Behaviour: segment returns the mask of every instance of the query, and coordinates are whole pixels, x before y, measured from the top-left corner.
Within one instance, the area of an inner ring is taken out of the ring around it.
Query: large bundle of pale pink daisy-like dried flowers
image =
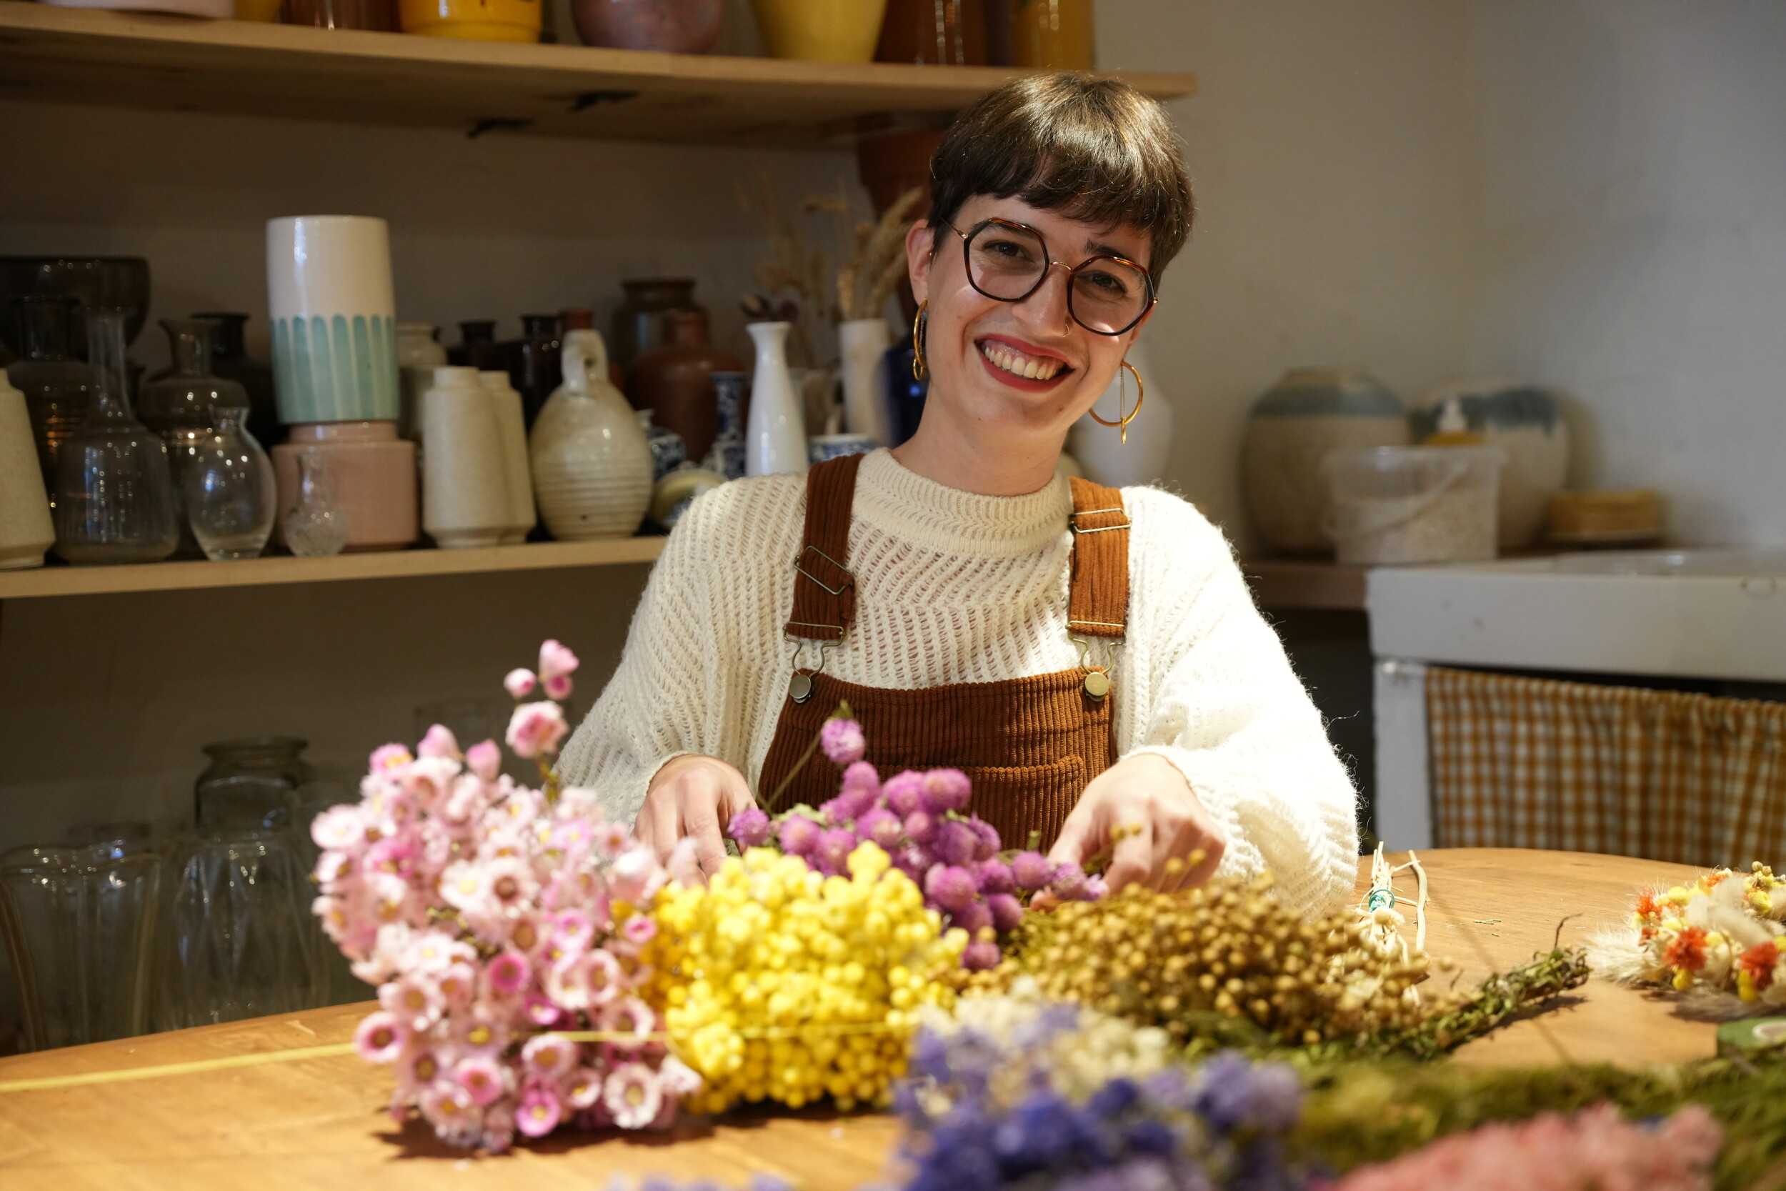
[[[668,880],[655,854],[602,814],[591,791],[559,791],[552,759],[570,730],[577,655],[557,641],[539,673],[513,671],[509,748],[539,761],[543,789],[500,773],[482,741],[461,754],[436,725],[411,754],[371,755],[357,805],[311,825],[316,914],[379,986],[355,1043],[396,1071],[391,1112],[420,1112],[448,1143],[507,1150],[514,1134],[664,1127],[700,1079],[661,1045],[641,1000],[639,952]],[[595,1030],[602,1041],[566,1032]]]

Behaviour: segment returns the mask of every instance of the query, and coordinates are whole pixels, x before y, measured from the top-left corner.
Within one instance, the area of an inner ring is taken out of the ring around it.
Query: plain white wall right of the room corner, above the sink
[[[1786,5],[1472,0],[1468,362],[1561,384],[1579,480],[1786,545]]]

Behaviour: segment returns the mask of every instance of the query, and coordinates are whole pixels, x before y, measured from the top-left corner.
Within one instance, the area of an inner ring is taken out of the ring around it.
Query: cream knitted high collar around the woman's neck
[[[982,496],[927,480],[893,452],[863,459],[855,479],[857,520],[938,554],[1014,559],[1047,550],[1066,532],[1072,487],[1056,473],[1025,496]]]

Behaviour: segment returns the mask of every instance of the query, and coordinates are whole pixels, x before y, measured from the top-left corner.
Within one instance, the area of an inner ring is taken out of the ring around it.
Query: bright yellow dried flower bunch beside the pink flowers
[[[707,886],[657,895],[645,952],[679,1057],[705,1080],[688,1100],[884,1105],[906,1071],[920,1005],[950,1007],[964,930],[943,932],[923,893],[873,843],[850,877],[752,848]]]

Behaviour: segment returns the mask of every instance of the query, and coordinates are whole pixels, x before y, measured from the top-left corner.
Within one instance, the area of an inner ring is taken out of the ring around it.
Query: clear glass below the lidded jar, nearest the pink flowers
[[[313,896],[289,830],[232,829],[175,843],[163,891],[157,1027],[321,1005]]]

